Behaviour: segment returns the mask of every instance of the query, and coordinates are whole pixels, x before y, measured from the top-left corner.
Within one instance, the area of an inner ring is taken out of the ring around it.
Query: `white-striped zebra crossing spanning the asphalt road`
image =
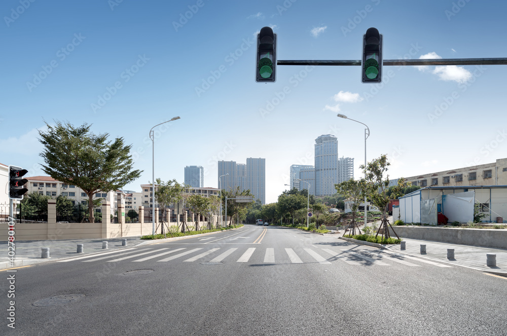
[[[75,258],[58,260],[58,263],[66,263],[74,260],[80,260],[84,263],[93,263],[104,261],[106,263],[117,263],[128,260],[129,262],[139,263],[147,260],[164,263],[176,260],[176,262],[210,262],[222,263],[236,262],[248,263],[262,260],[265,264],[308,264],[318,263],[321,265],[331,265],[333,262],[345,263],[352,266],[374,265],[388,267],[393,265],[404,265],[407,267],[422,267],[431,265],[435,267],[452,267],[445,264],[432,262],[427,259],[416,258],[409,255],[399,254],[392,251],[375,250],[350,250],[330,248],[318,248],[315,245],[312,248],[302,248],[295,251],[293,248],[273,247],[248,247],[241,250],[238,247],[233,248],[127,248],[117,251],[107,251],[84,255]],[[192,255],[194,254],[194,255]]]

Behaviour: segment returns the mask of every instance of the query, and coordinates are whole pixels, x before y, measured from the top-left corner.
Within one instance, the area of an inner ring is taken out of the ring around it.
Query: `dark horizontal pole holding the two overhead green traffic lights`
[[[355,60],[277,60],[277,65],[361,65]],[[507,65],[507,58],[384,59],[382,65]]]

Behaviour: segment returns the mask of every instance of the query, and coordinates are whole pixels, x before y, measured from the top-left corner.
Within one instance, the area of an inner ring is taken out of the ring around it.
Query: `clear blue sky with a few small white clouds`
[[[500,1],[4,0],[0,162],[44,175],[39,130],[92,124],[132,144],[140,179],[184,181],[218,161],[266,159],[266,202],[289,167],[313,165],[315,138],[338,138],[339,157],[388,156],[390,178],[507,157],[506,65],[384,66],[381,84],[359,66],[276,67],[255,82],[256,36],[277,34],[278,60],[358,60],[363,34],[383,35],[384,59],[507,57]]]

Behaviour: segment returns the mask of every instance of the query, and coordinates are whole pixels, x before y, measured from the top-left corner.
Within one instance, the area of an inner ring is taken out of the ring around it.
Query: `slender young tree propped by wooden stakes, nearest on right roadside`
[[[403,195],[403,189],[407,187],[405,178],[402,177],[398,179],[398,184],[391,188],[390,193],[387,193],[389,189],[387,167],[390,165],[391,164],[387,161],[387,156],[383,154],[379,158],[368,162],[366,167],[365,165],[359,166],[366,174],[366,192],[368,199],[382,211],[382,221],[376,236],[381,233],[387,238],[390,236],[387,226],[391,227],[387,220],[387,205],[391,199]],[[400,238],[392,227],[391,230],[397,238]]]

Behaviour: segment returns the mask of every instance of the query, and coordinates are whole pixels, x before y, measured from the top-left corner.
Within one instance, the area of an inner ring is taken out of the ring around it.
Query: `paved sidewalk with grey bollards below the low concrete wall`
[[[390,245],[387,249],[450,265],[507,276],[507,250],[409,238],[403,238],[403,240],[406,242],[405,250],[401,250],[400,245]],[[421,253],[421,244],[426,245],[426,253]],[[454,259],[447,258],[448,248],[454,249]],[[486,266],[486,253],[496,254],[496,267]]]

